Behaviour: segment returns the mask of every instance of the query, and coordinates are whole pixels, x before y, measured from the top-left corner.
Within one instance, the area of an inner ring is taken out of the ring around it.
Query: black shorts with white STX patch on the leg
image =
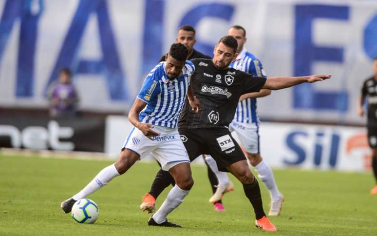
[[[193,161],[202,154],[211,155],[220,171],[240,160],[246,160],[242,149],[227,128],[178,129],[188,157]]]

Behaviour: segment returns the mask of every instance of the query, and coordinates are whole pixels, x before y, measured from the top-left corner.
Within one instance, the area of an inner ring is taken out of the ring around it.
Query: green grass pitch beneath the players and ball
[[[156,163],[137,163],[129,172],[89,196],[99,206],[93,225],[75,223],[60,202],[84,187],[109,161],[46,159],[0,154],[0,235],[376,235],[377,196],[371,174],[275,170],[285,196],[282,215],[270,217],[278,232],[254,226],[254,212],[242,185],[226,194],[226,212],[215,212],[207,168],[192,166],[188,197],[168,219],[183,229],[147,225],[139,208]],[[268,212],[269,194],[259,181]],[[169,188],[170,189],[170,188]],[[157,199],[160,206],[168,190]]]

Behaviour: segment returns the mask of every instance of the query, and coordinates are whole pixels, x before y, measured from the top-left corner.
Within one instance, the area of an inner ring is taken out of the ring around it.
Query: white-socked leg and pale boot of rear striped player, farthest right
[[[270,210],[268,216],[279,216],[282,210],[284,196],[279,192],[278,186],[275,182],[274,174],[270,166],[263,160],[261,154],[247,153],[243,150],[250,164],[258,173],[259,179],[262,180],[264,186],[268,189],[271,197]]]

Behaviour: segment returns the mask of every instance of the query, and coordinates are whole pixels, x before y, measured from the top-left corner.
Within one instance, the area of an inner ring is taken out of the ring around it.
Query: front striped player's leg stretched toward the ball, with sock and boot
[[[78,192],[76,195],[74,195],[71,198],[68,198],[67,200],[63,201],[60,204],[61,209],[65,213],[70,213],[72,210],[72,206],[75,204],[75,202],[78,199],[85,198],[94,192],[96,192],[101,187],[108,184],[114,177],[120,176],[140,158],[139,154],[129,150],[129,149],[123,149],[120,153],[118,159],[116,159],[115,163],[112,165],[109,165],[108,167],[105,167],[102,169],[95,177],[94,179],[85,186],[80,192]]]

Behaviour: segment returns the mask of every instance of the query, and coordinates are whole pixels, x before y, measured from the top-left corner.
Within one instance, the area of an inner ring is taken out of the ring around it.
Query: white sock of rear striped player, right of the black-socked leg
[[[281,194],[278,190],[278,186],[276,186],[274,174],[272,174],[272,170],[267,162],[262,159],[262,161],[254,168],[258,173],[258,177],[263,181],[264,186],[266,186],[270,192],[271,199],[279,199]]]

